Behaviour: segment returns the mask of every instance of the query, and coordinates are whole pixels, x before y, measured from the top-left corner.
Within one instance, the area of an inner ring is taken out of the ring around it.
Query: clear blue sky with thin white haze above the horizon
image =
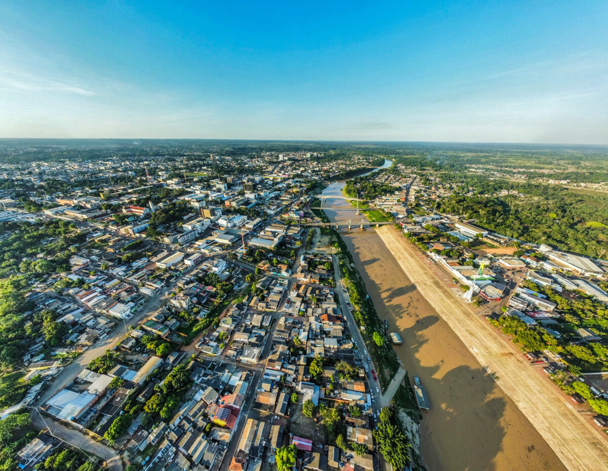
[[[0,137],[608,143],[608,4],[0,2]]]

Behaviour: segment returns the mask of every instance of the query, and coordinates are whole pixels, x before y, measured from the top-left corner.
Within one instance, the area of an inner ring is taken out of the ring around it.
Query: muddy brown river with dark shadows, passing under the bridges
[[[389,163],[390,164],[390,163]],[[344,182],[324,195],[340,195]],[[333,205],[344,203],[331,200]],[[354,211],[327,211],[333,221],[361,220]],[[554,470],[561,461],[496,386],[456,334],[412,285],[373,229],[342,237],[378,314],[401,334],[395,348],[429,393],[421,452],[429,470]]]

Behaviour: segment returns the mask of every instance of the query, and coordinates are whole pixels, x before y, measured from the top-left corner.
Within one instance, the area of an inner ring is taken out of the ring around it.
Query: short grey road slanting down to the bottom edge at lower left
[[[80,449],[89,455],[99,456],[105,460],[109,471],[123,471],[120,456],[102,442],[95,441],[79,430],[69,429],[65,425],[61,425],[47,417],[43,418],[36,408],[30,410],[30,418],[32,419],[32,425],[37,429],[48,430],[50,435],[60,439],[69,446]]]

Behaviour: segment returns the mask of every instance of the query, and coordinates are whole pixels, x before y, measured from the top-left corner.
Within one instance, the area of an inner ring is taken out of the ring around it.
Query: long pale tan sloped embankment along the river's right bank
[[[537,371],[472,313],[417,256],[393,226],[378,234],[409,279],[517,405],[570,470],[608,470],[608,443]]]

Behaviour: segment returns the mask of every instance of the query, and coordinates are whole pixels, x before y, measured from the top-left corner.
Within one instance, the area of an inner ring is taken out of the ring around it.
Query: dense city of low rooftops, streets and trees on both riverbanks
[[[605,206],[578,253],[416,156],[3,145],[0,469],[424,469],[440,405],[340,235],[384,226],[606,440]]]

